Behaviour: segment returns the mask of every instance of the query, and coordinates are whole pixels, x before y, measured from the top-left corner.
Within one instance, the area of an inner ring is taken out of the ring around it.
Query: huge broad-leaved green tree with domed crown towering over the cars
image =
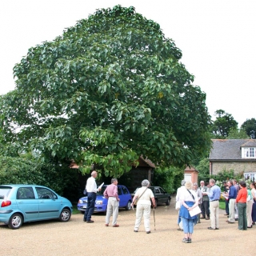
[[[14,66],[5,142],[120,176],[140,155],[182,166],[209,147],[206,95],[182,52],[134,7],[97,10]]]

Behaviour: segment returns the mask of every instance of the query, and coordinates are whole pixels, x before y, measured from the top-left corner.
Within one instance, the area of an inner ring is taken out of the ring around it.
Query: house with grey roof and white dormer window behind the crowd
[[[256,180],[256,139],[212,139],[210,174],[222,170],[243,173],[246,179]]]

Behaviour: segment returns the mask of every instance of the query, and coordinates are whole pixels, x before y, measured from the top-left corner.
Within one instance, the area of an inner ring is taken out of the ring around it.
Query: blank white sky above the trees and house
[[[28,49],[53,41],[96,9],[120,4],[157,22],[206,93],[208,112],[256,118],[255,0],[8,0],[0,3],[0,94],[15,89],[13,67]]]

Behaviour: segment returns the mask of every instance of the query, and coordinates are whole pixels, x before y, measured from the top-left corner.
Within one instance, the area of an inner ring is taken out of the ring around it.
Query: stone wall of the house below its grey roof
[[[256,162],[211,162],[212,174],[222,170],[234,170],[234,174],[256,172]],[[210,171],[211,174],[211,171]]]

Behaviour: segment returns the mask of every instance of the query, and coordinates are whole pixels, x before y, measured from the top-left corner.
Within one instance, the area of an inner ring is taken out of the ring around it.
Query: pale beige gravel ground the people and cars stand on
[[[70,222],[31,222],[18,230],[0,224],[1,256],[10,255],[252,255],[256,249],[256,226],[238,230],[238,222],[227,224],[220,210],[220,230],[207,230],[210,221],[202,219],[194,227],[192,243],[182,242],[178,231],[178,211],[170,206],[151,210],[151,234],[143,226],[134,233],[135,211],[119,210],[119,227],[105,226],[105,216],[94,214],[94,223],[74,214]],[[110,219],[111,221],[111,219]]]

